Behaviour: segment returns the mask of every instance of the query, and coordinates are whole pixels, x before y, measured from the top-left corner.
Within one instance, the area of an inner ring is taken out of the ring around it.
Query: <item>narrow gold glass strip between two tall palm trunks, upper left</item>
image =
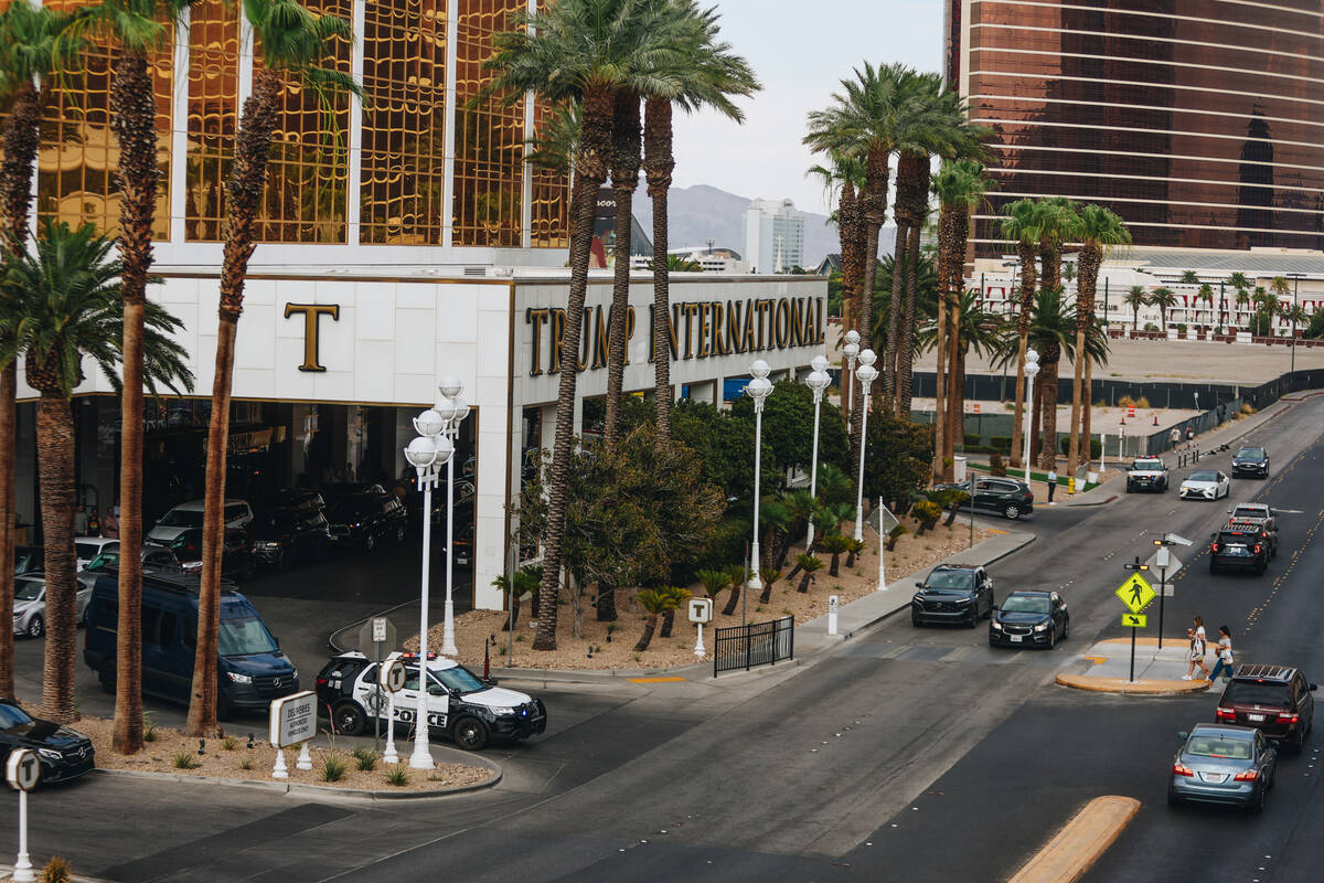
[[[193,5],[188,45],[188,159],[184,236],[221,238],[225,180],[234,155],[240,97],[240,11],[225,0]]]

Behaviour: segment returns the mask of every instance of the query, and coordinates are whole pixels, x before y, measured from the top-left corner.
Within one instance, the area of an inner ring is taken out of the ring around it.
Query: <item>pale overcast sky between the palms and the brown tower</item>
[[[741,102],[744,124],[704,111],[675,115],[675,183],[751,199],[789,196],[826,214],[817,159],[801,146],[805,114],[824,107],[862,61],[939,70],[940,0],[710,0],[722,37],[749,60],[763,91]],[[704,4],[707,5],[707,4]]]

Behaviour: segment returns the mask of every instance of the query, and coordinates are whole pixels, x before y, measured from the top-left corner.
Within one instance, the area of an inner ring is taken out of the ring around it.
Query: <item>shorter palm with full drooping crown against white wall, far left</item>
[[[122,265],[110,258],[114,242],[91,225],[70,230],[48,221],[30,249],[7,256],[0,275],[0,364],[24,356],[28,385],[37,391],[37,469],[45,534],[46,653],[42,716],[69,723],[74,704],[77,588],[74,580],[74,420],[73,389],[90,357],[119,388],[115,368],[123,346]],[[147,304],[143,334],[144,383],[183,395],[193,376],[187,353],[169,335],[183,324]]]

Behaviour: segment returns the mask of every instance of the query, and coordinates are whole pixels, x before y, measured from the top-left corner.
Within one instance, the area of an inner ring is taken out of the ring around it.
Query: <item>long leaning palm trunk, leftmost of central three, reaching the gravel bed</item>
[[[561,552],[565,540],[565,503],[569,490],[571,443],[575,432],[575,391],[579,380],[577,353],[584,330],[584,294],[588,290],[589,244],[593,236],[593,205],[597,189],[606,180],[612,150],[613,97],[601,89],[584,93],[584,124],[576,156],[575,192],[571,208],[575,230],[571,237],[571,286],[565,301],[565,336],[560,384],[556,393],[556,433],[547,492],[547,528],[543,532],[543,579],[539,593],[535,650],[556,649],[556,604],[560,597]]]

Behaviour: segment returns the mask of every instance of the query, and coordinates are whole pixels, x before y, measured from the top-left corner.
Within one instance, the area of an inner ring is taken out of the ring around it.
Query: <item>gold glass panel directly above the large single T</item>
[[[351,21],[350,0],[307,0],[305,7]],[[351,41],[335,38],[323,68],[350,74]],[[254,75],[261,48],[254,50]],[[263,242],[344,242],[350,184],[350,97],[322,93],[286,77],[271,134],[258,238]]]

